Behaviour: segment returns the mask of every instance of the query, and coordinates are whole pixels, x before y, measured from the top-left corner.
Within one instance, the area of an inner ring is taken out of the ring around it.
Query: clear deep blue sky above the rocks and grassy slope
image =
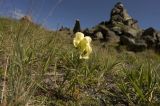
[[[0,15],[19,19],[26,14],[49,29],[73,27],[80,19],[82,28],[109,20],[116,2],[121,1],[142,28],[160,30],[160,0],[0,0]]]

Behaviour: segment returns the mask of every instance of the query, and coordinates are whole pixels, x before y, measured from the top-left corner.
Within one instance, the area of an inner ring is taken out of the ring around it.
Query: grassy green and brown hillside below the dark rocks
[[[80,60],[65,31],[0,19],[0,89],[6,106],[151,105],[160,102],[160,55],[92,42]]]

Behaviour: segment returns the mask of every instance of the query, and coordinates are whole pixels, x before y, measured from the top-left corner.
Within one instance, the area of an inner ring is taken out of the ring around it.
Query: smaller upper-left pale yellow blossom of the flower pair
[[[74,45],[75,47],[77,47],[78,44],[80,43],[80,41],[81,41],[83,38],[84,38],[84,34],[81,33],[81,32],[77,32],[77,33],[75,34],[75,38],[73,39],[73,45]]]

